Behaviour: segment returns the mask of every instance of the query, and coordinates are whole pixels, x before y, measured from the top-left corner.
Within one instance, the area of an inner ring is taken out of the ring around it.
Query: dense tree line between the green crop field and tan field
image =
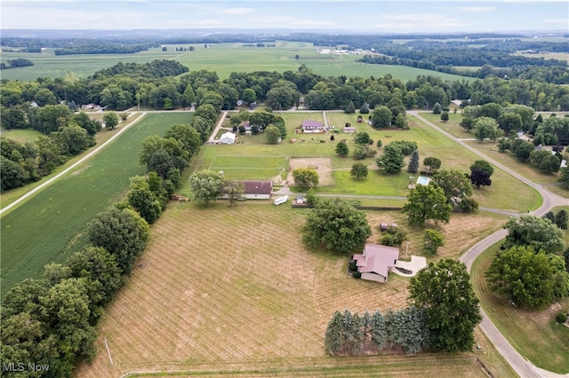
[[[189,124],[173,125],[164,138],[145,138],[140,163],[148,176],[132,177],[126,199],[87,224],[90,245],[8,291],[0,309],[4,366],[41,364],[49,366],[45,376],[68,377],[77,360],[92,361],[105,306],[128,280],[147,246],[148,224],[160,217],[202,143]]]

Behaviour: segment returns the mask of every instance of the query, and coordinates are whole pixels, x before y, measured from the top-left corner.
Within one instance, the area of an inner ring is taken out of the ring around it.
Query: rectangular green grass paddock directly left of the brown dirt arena
[[[286,156],[215,155],[209,169],[229,179],[270,180],[288,169]]]

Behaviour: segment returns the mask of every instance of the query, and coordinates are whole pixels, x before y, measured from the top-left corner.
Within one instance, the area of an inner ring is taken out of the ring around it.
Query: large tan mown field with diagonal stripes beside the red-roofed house
[[[451,362],[476,357],[496,376],[511,375],[478,332],[477,343],[484,346],[480,354],[327,357],[325,327],[334,311],[405,307],[409,280],[395,274],[385,285],[351,279],[346,274],[348,256],[302,246],[306,215],[307,210],[275,207],[270,201],[246,201],[232,208],[227,201],[208,208],[172,202],[152,226],[150,244],[131,279],[103,316],[96,358],[92,365],[79,366],[75,375],[177,371],[267,376],[280,371],[295,376],[298,369],[301,375],[322,376],[327,374],[317,372],[331,369],[330,374],[342,375],[353,366],[355,375],[350,376],[360,376],[365,366],[372,366],[371,374],[384,365],[384,374],[450,376],[450,363],[461,376],[484,376],[471,359]],[[399,214],[370,212],[367,217],[378,224]],[[483,235],[498,226],[492,218],[470,221],[457,217],[449,224],[454,230],[445,231],[453,249],[449,255],[466,248],[450,232],[462,233],[474,223]],[[370,240],[377,237],[375,231]],[[410,253],[415,251],[412,246]]]

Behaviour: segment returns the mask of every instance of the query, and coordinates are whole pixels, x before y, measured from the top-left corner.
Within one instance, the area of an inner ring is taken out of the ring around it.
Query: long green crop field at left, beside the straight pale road
[[[141,141],[163,135],[191,114],[148,114],[100,154],[2,217],[2,295],[36,277],[45,264],[64,261],[87,243],[85,224],[124,195],[129,178],[143,174]]]

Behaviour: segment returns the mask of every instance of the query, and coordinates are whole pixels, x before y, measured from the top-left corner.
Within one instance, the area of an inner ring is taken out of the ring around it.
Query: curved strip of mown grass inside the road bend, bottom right
[[[565,237],[568,233],[565,232]],[[499,248],[495,245],[487,249],[472,267],[472,280],[482,307],[522,356],[543,369],[569,374],[569,327],[557,324],[554,319],[558,312],[569,312],[569,299],[543,311],[529,311],[514,308],[504,297],[493,294],[484,273]]]

